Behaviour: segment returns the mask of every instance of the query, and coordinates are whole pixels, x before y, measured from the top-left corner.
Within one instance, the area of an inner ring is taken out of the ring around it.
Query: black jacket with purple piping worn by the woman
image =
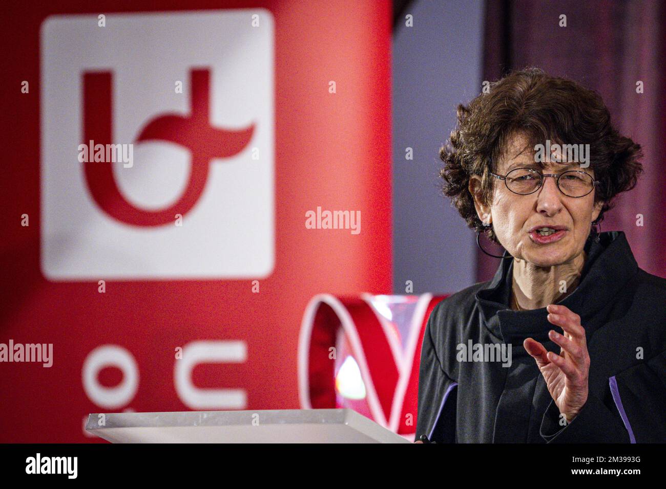
[[[547,333],[562,331],[547,321],[545,308],[509,309],[513,259],[503,259],[491,281],[447,297],[428,319],[417,439],[666,442],[666,279],[638,267],[623,232],[599,238],[587,240],[581,281],[559,302],[581,316],[587,337],[589,395],[577,416],[561,425],[543,376],[523,348],[532,337],[559,353]],[[510,344],[511,365],[469,361],[458,345],[470,340],[494,348]]]

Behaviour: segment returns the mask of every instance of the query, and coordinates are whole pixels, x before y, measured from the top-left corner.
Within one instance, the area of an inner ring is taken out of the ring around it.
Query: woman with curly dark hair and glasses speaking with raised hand
[[[525,69],[458,107],[440,158],[444,194],[505,252],[430,315],[417,440],[666,442],[666,279],[595,229],[640,146],[598,94]]]

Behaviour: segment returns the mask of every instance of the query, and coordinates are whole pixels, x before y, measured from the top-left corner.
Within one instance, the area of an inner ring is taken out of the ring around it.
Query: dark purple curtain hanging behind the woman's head
[[[567,27],[559,27],[566,15]],[[638,185],[617,198],[601,231],[621,230],[639,267],[666,277],[666,5],[657,0],[486,3],[484,80],[536,66],[597,90],[617,129],[643,146]],[[636,82],[643,82],[643,93]],[[637,226],[637,215],[643,226]],[[499,254],[483,240],[484,249]],[[479,251],[477,279],[499,260]]]

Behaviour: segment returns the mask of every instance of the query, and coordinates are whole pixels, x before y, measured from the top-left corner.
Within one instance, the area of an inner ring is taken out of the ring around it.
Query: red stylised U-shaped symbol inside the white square
[[[91,196],[109,216],[133,226],[162,226],[174,222],[175,214],[184,216],[200,198],[208,180],[210,160],[233,156],[250,142],[254,124],[238,131],[210,125],[209,79],[210,71],[207,69],[190,71],[191,115],[165,114],[153,118],[137,138],[137,142],[175,142],[192,153],[188,183],[175,204],[156,211],[137,208],[121,194],[111,162],[83,164]],[[83,74],[83,144],[87,145],[90,140],[94,140],[95,144],[111,144],[113,140],[111,83],[110,72]]]

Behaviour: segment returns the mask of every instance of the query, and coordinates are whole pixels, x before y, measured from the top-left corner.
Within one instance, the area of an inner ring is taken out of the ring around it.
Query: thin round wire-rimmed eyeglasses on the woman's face
[[[543,185],[543,179],[551,176],[556,179],[557,188],[567,197],[585,197],[601,182],[594,180],[589,173],[581,170],[569,170],[560,175],[541,174],[531,168],[515,168],[505,176],[490,172],[498,180],[504,180],[506,188],[514,194],[533,194]]]

